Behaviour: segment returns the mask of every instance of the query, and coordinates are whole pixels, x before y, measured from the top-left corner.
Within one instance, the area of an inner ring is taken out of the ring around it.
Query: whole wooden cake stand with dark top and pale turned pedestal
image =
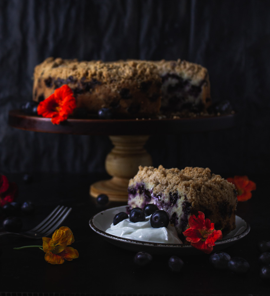
[[[107,135],[114,147],[107,155],[105,169],[110,180],[90,186],[90,195],[106,194],[110,201],[126,202],[129,179],[139,165],[152,165],[144,144],[150,135],[216,131],[235,126],[236,114],[182,119],[68,119],[53,125],[50,118],[9,112],[9,125],[27,131],[77,135]]]

